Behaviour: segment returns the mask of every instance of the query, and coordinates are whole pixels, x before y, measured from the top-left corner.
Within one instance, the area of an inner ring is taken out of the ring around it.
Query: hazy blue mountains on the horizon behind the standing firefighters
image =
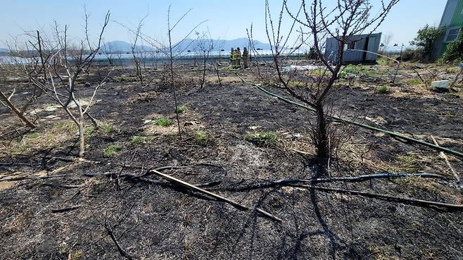
[[[198,50],[199,44],[204,44],[208,46],[208,44],[212,41],[213,43],[213,51],[220,51],[220,50],[229,50],[231,48],[239,47],[241,50],[243,47],[247,47],[249,40],[248,38],[239,38],[239,39],[184,39],[183,42],[177,44],[173,44],[175,46],[174,52],[178,51],[196,51]],[[256,49],[270,49],[270,44],[265,44],[259,42],[257,40],[254,41],[254,45]],[[146,45],[137,45],[135,47],[135,51],[156,51],[156,48],[146,46]],[[124,41],[114,41],[114,42],[106,42],[101,47],[101,51],[114,54],[114,53],[131,53],[132,52],[132,44]]]

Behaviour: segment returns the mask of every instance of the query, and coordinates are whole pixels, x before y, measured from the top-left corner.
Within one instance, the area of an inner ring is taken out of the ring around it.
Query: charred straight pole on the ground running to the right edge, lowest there
[[[337,188],[330,188],[330,187],[319,187],[319,186],[312,186],[312,185],[298,185],[298,187],[303,187],[307,189],[313,190],[321,190],[324,192],[337,192],[337,193],[344,193],[350,195],[358,195],[363,197],[370,197],[374,199],[385,199],[390,200],[393,202],[400,202],[404,204],[412,204],[417,206],[426,206],[426,207],[437,207],[439,209],[448,209],[448,210],[455,210],[455,211],[463,211],[463,205],[458,204],[448,204],[443,202],[431,202],[429,200],[423,199],[413,199],[413,198],[404,198],[404,197],[394,197],[391,195],[386,194],[377,194],[377,193],[370,193],[370,192],[360,192],[357,190],[343,190]]]

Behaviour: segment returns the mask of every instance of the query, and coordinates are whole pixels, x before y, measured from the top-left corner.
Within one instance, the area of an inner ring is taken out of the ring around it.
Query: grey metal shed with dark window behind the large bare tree
[[[381,43],[381,32],[371,35],[354,35],[345,46],[344,63],[374,63]],[[338,40],[334,37],[326,39],[324,56],[331,63],[338,61]]]

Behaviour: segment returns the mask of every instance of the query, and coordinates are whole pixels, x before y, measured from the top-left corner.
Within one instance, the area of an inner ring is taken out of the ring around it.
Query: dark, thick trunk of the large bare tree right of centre
[[[317,161],[323,169],[328,166],[330,156],[329,140],[328,140],[328,125],[326,124],[326,115],[324,113],[323,104],[317,104],[317,132],[315,133],[315,146],[317,148]]]

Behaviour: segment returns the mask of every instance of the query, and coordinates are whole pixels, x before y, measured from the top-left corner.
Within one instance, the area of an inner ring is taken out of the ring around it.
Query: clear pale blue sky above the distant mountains
[[[324,2],[331,4],[334,1]],[[372,4],[378,1],[372,0]],[[300,1],[290,2],[293,9],[296,9]],[[393,43],[408,44],[419,27],[426,23],[438,25],[446,2],[446,0],[401,0],[377,31],[393,34]],[[246,37],[246,28],[253,23],[254,38],[265,42],[264,0],[1,0],[0,46],[5,46],[6,40],[21,34],[23,30],[50,31],[53,20],[61,25],[70,25],[68,35],[82,37],[84,6],[90,14],[92,35],[96,36],[96,30],[101,26],[104,14],[110,10],[112,20],[129,27],[136,27],[138,21],[148,14],[143,32],[163,41],[166,35],[169,4],[172,4],[172,20],[179,18],[181,13],[189,8],[193,8],[183,23],[177,26],[174,32],[175,40],[181,39],[197,23],[208,20],[198,28],[198,31],[210,30],[215,39]],[[270,4],[272,10],[277,11],[281,7],[281,0],[270,0]],[[132,35],[117,23],[110,23],[104,38],[107,42],[113,40],[130,42]]]

